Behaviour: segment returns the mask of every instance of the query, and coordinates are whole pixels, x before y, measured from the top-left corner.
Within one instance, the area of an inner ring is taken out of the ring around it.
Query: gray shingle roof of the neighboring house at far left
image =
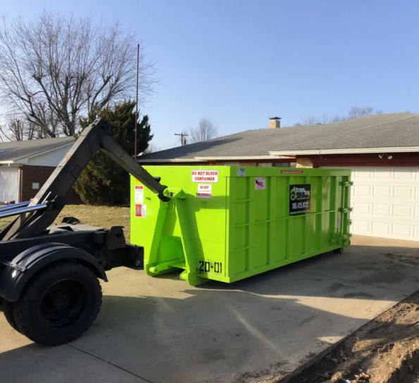
[[[0,161],[16,161],[19,158],[35,156],[74,142],[73,137],[31,139],[29,141],[1,142]]]

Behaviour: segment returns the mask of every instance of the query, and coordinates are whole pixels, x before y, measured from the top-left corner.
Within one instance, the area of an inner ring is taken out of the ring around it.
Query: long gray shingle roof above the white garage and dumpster
[[[246,130],[208,142],[158,151],[145,160],[268,156],[270,151],[364,149],[419,146],[419,115],[368,115],[338,124]]]

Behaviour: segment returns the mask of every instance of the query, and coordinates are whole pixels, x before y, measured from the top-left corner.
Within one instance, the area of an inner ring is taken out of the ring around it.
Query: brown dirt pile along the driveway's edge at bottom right
[[[277,382],[419,382],[419,291]]]

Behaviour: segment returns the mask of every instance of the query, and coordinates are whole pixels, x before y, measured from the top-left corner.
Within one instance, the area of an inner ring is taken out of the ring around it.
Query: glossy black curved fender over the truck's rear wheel
[[[0,275],[0,296],[9,302],[18,301],[27,282],[39,270],[59,260],[75,260],[85,264],[98,278],[108,282],[104,268],[87,251],[66,244],[40,244],[23,251],[6,263],[6,268]]]

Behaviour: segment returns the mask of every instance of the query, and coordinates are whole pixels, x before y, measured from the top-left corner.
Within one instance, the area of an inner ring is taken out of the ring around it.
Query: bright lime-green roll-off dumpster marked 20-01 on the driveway
[[[349,246],[350,170],[147,166],[173,195],[131,178],[131,242],[148,275],[234,282]]]

